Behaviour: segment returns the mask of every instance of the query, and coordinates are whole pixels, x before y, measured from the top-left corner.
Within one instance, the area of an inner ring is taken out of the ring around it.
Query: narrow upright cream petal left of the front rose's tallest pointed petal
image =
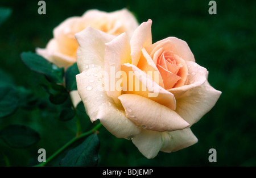
[[[121,86],[120,89],[117,89],[115,86],[118,80],[122,80],[122,76],[116,76],[117,72],[121,71],[121,65],[123,63],[131,63],[130,56],[130,44],[127,40],[127,35],[125,33],[117,36],[111,42],[106,43],[105,57],[104,57],[104,70],[108,72],[108,90],[106,93],[109,97],[112,97],[115,103],[118,103],[118,96],[121,95]]]

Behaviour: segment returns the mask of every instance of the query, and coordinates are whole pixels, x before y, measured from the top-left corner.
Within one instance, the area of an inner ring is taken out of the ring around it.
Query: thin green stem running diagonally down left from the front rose
[[[67,147],[71,146],[71,144],[75,143],[76,140],[79,140],[81,138],[84,138],[87,135],[90,135],[92,133],[96,133],[98,129],[101,127],[101,123],[98,123],[97,126],[95,126],[92,130],[87,131],[86,133],[82,133],[79,136],[76,136],[75,138],[72,138],[68,143],[66,143],[63,147],[61,147],[59,150],[57,150],[55,153],[53,153],[49,158],[46,160],[46,162],[40,163],[35,165],[35,167],[45,166],[48,164],[53,158],[55,158],[57,155],[59,155],[62,151],[64,151]]]

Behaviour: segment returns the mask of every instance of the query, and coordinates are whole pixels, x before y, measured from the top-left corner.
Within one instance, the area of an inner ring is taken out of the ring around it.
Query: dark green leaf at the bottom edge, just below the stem
[[[98,163],[98,149],[100,141],[97,134],[88,136],[79,146],[68,151],[68,154],[61,159],[60,166],[82,167],[96,166]]]

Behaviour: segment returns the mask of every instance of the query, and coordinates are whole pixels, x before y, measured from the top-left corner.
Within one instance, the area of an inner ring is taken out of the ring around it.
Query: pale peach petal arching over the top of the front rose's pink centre
[[[175,37],[168,37],[166,39],[160,40],[148,47],[146,50],[150,55],[153,55],[160,48],[164,48],[164,50],[170,50],[174,52],[175,55],[180,56],[185,61],[193,61],[195,62],[195,57],[191,52],[191,49],[188,47],[187,42],[175,38]]]

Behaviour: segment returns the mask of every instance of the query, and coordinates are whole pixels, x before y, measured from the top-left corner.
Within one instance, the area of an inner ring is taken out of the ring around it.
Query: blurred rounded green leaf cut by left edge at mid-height
[[[0,86],[0,118],[13,114],[18,109],[19,97],[11,86]]]

